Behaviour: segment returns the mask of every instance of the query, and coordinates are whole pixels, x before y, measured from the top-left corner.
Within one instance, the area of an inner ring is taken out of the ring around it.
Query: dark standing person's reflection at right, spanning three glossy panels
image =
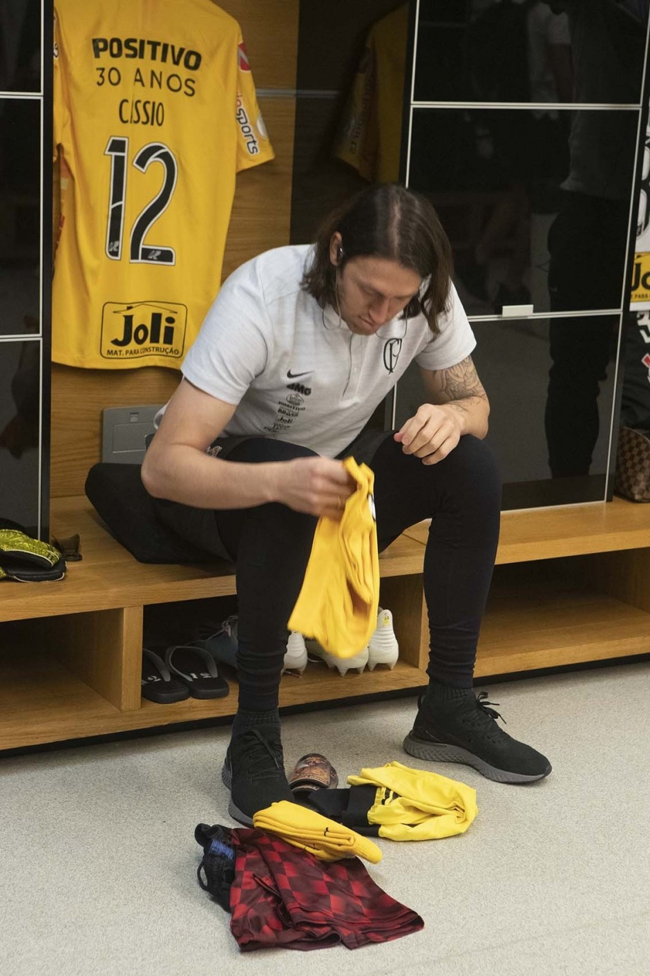
[[[569,18],[574,102],[639,102],[649,0],[549,3]],[[627,305],[624,288],[637,113],[577,109],[570,169],[548,233],[551,311]],[[551,319],[546,431],[553,477],[589,473],[598,436],[598,393],[619,316]]]

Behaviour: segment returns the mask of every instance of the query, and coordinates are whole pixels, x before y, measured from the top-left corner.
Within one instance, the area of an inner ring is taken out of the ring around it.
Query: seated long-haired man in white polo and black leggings
[[[224,782],[243,823],[293,798],[277,711],[287,622],[318,517],[341,518],[352,492],[347,456],[374,471],[380,549],[432,516],[429,684],[405,750],[500,782],[550,771],[471,690],[501,488],[451,270],[424,197],[394,183],[362,191],[312,246],[266,252],[227,279],[146,452],[160,517],[236,563],[239,708]],[[427,401],[398,430],[367,429],[414,360]]]

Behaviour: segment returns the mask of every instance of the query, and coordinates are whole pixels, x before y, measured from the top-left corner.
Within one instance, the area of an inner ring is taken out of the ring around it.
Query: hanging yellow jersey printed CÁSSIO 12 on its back
[[[180,367],[235,174],[273,158],[238,23],[211,0],[57,0],[54,141],[53,359]]]

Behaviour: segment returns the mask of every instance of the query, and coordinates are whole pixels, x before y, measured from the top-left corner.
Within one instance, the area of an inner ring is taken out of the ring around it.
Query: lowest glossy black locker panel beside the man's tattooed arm
[[[472,328],[503,507],[603,500],[619,317],[493,320]],[[423,399],[413,364],[397,386],[397,427]]]

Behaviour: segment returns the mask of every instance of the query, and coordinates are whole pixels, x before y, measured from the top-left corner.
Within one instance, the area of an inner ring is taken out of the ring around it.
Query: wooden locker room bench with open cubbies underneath
[[[144,609],[232,600],[226,564],[137,562],[82,496],[52,503],[53,533],[78,532],[83,560],[58,583],[0,584],[0,750],[232,715],[227,698],[157,705],[141,699]],[[427,523],[380,557],[381,602],[400,660],[341,677],[309,665],[282,678],[280,706],[408,692],[427,683],[422,569]],[[476,675],[650,651],[650,510],[610,504],[505,512]]]

